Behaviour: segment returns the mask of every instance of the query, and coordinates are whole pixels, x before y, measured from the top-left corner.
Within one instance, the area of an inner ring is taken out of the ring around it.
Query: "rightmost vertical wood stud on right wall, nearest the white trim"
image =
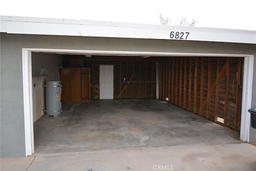
[[[240,93],[241,88],[238,88],[240,86],[240,70],[241,70],[241,58],[238,58],[238,69],[236,73],[236,114],[235,114],[235,122],[234,122],[234,129],[236,130],[238,128],[238,117],[239,117],[239,109],[240,109]]]

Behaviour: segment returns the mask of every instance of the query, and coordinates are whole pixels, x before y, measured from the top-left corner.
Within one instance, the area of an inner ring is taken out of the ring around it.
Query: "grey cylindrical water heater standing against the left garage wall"
[[[57,117],[61,112],[61,82],[46,82],[46,115]]]

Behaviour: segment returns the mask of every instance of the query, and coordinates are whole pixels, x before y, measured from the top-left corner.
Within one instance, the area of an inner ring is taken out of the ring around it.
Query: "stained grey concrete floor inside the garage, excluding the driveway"
[[[238,143],[239,132],[157,99],[62,103],[34,123],[35,154]]]

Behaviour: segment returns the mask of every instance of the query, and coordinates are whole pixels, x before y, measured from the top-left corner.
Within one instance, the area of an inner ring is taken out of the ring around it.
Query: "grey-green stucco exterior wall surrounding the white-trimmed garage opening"
[[[252,54],[256,56],[255,44],[6,33],[1,33],[0,38],[1,157],[25,156],[22,48]],[[254,60],[254,66],[256,66],[256,60]],[[256,87],[256,68],[254,68],[253,77],[253,87]],[[253,89],[252,106],[256,106],[255,96],[256,89]],[[252,141],[256,139],[255,130],[251,130]]]

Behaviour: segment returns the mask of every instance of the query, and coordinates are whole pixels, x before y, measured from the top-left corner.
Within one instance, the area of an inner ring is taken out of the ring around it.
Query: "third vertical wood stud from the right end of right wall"
[[[217,57],[217,70],[216,70],[216,93],[215,93],[215,111],[214,111],[214,121],[217,121],[218,117],[218,107],[219,107],[219,91],[220,91],[220,80],[218,79],[220,75],[220,57]]]

